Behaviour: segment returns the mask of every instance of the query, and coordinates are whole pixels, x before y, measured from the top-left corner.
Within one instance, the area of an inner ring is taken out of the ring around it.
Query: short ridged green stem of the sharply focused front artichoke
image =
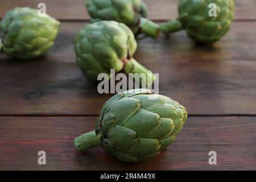
[[[96,147],[101,144],[102,134],[90,131],[75,138],[75,146],[79,151],[85,151],[88,148]]]

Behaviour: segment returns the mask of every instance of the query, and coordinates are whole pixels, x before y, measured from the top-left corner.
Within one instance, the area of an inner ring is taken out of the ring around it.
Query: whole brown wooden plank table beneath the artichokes
[[[0,17],[39,2],[1,0]],[[189,117],[168,150],[133,164],[101,147],[76,150],[73,139],[93,129],[112,95],[98,94],[75,63],[76,32],[89,22],[84,0],[44,2],[47,13],[61,20],[55,46],[37,60],[0,55],[0,169],[256,169],[255,0],[236,1],[229,34],[213,46],[195,46],[183,31],[138,42],[135,59],[160,73],[160,94],[186,106]],[[150,18],[175,18],[177,2],[146,0]],[[217,165],[210,166],[212,150]],[[38,164],[38,151],[46,151],[46,165]]]

